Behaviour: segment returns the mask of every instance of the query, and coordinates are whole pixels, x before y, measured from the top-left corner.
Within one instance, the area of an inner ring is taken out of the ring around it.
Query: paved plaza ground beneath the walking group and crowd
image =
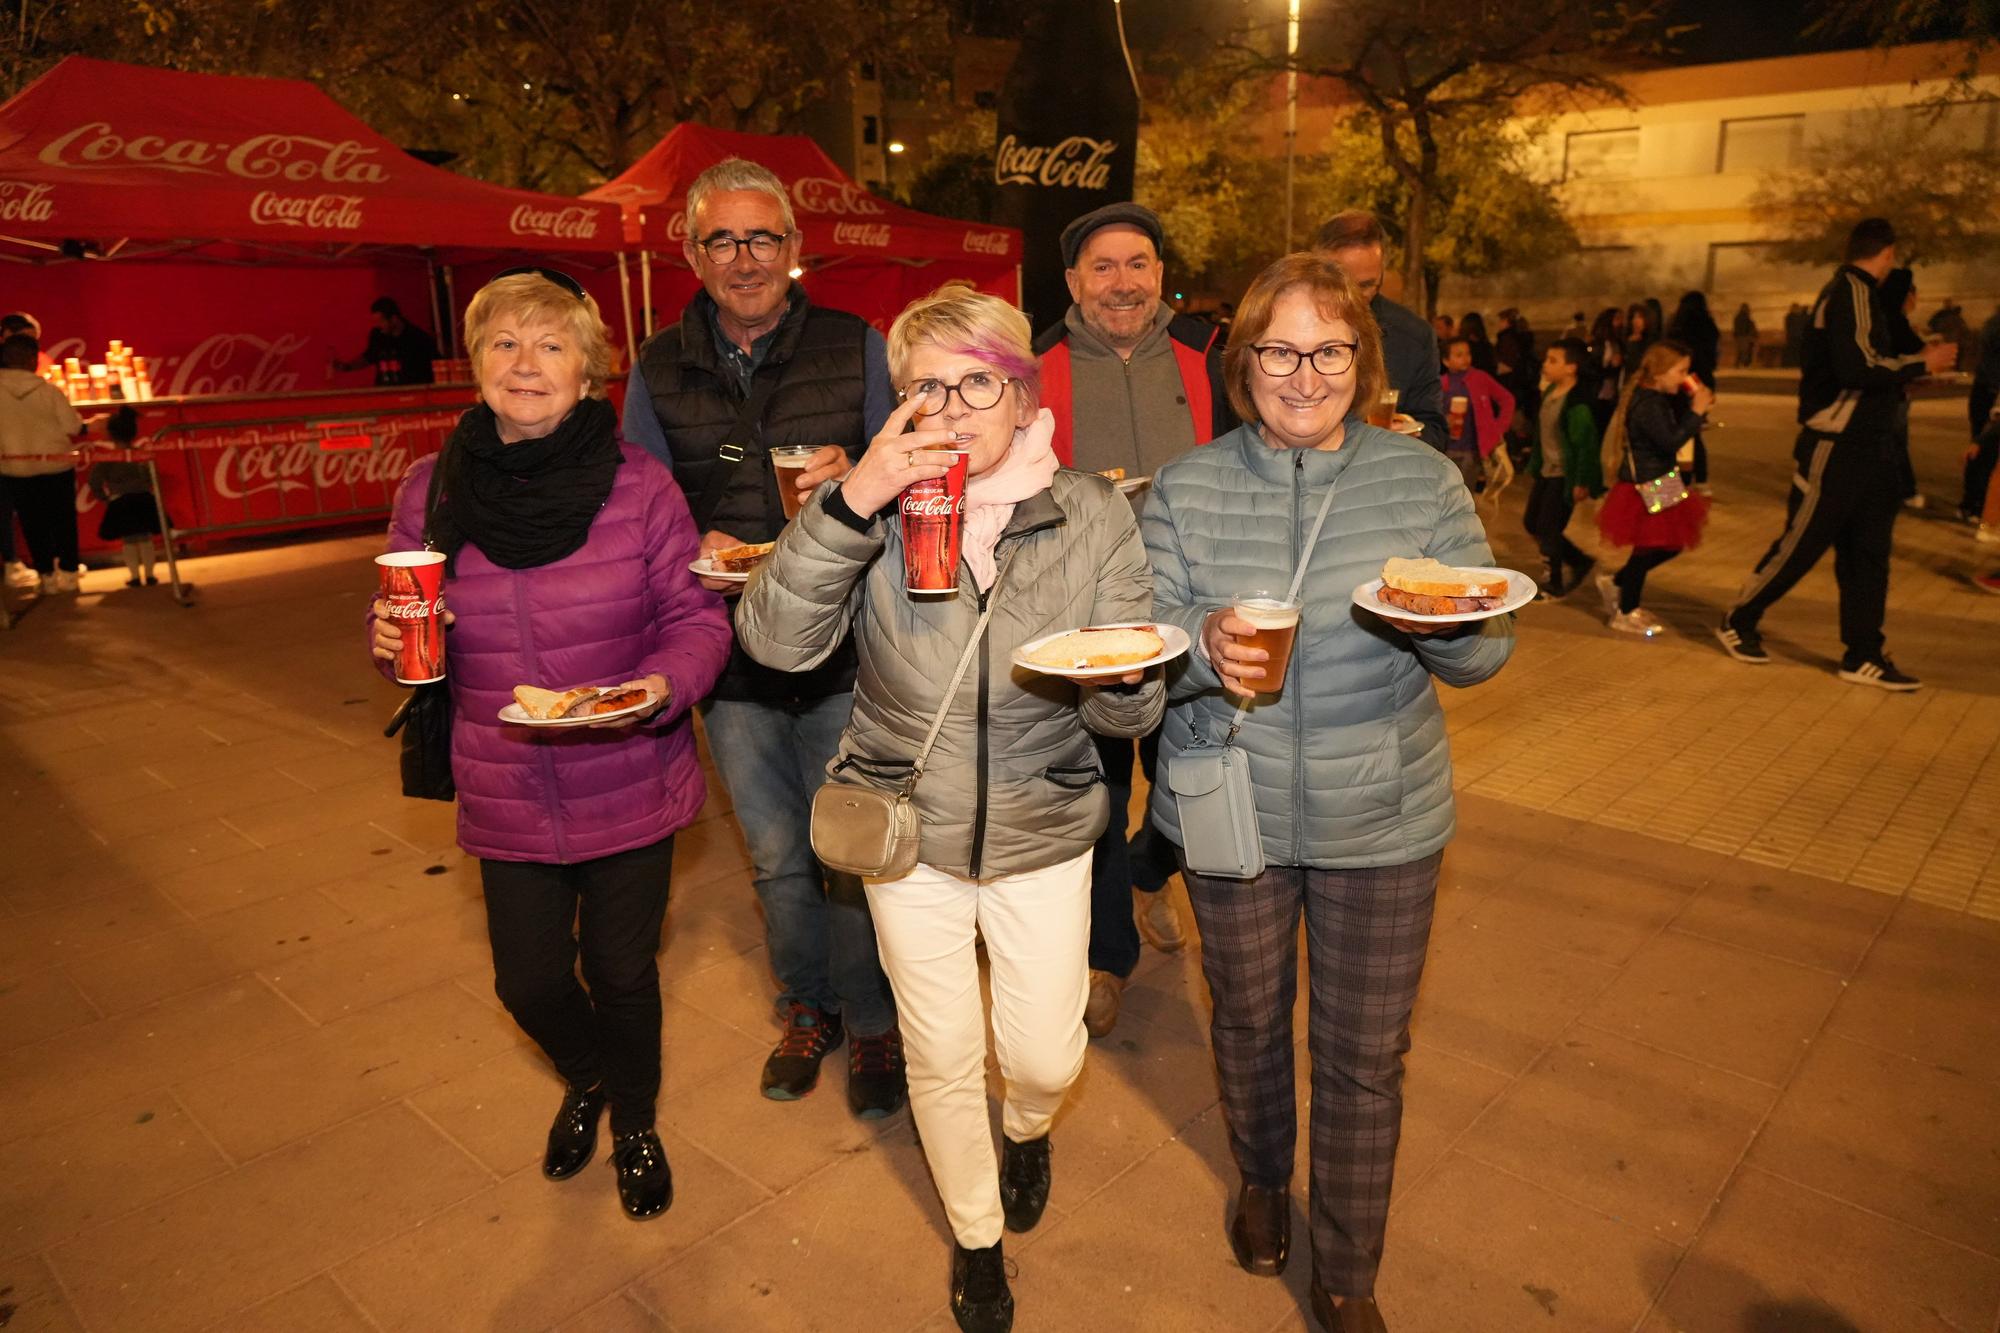
[[[1918,408],[1938,496],[1956,410]],[[1924,693],[1832,679],[1830,570],[1772,612],[1778,664],[1726,660],[1786,438],[1782,400],[1722,416],[1710,540],[1648,598],[1676,632],[1534,606],[1448,697],[1400,1333],[2000,1331],[2000,598],[1910,516],[1890,636]],[[716,787],[664,937],[676,1205],[540,1177],[554,1075],[494,1001],[450,811],[380,737],[374,544],[190,560],[190,608],[92,574],[0,634],[0,1327],[950,1329],[908,1117],[848,1119],[834,1067],[756,1095],[770,979]],[[1222,1239],[1198,973],[1148,951],[1092,1045],[1048,1217],[1008,1237],[1024,1331],[1306,1327],[1304,1257],[1252,1279]]]

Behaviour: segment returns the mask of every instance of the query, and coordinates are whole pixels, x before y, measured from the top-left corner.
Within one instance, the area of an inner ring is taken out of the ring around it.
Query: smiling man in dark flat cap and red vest
[[[1164,240],[1158,214],[1142,204],[1106,204],[1062,228],[1062,266],[1074,304],[1060,324],[1036,338],[1034,350],[1042,406],[1056,418],[1052,442],[1064,466],[1122,468],[1132,484],[1236,428],[1222,382],[1222,330],[1176,316],[1160,300]],[[1138,743],[1148,783],[1158,741],[1154,733]],[[1162,893],[1176,869],[1172,845],[1144,817],[1138,833],[1126,839],[1132,751],[1132,741],[1098,737],[1112,823],[1090,863],[1084,1027],[1092,1037],[1108,1035],[1118,1023],[1124,983],[1138,967],[1140,935],[1168,953],[1186,943],[1180,915]]]

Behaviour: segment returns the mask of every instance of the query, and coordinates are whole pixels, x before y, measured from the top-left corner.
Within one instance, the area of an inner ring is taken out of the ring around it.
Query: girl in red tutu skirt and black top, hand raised
[[[1598,574],[1598,590],[1604,594],[1608,624],[1622,634],[1652,638],[1666,630],[1638,604],[1646,574],[1700,544],[1708,524],[1708,498],[1686,486],[1670,484],[1670,494],[1656,494],[1656,512],[1640,492],[1640,482],[1678,478],[1680,446],[1694,438],[1716,400],[1700,380],[1688,382],[1688,348],[1678,342],[1654,342],[1646,348],[1604,430],[1604,474],[1618,480],[1598,510],[1598,532],[1614,546],[1630,546],[1632,556],[1616,574]],[[1672,492],[1680,498],[1672,498]]]

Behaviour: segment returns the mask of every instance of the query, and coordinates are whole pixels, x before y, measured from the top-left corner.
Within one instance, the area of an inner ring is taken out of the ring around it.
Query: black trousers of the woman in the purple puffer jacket
[[[494,993],[564,1081],[604,1085],[614,1135],[652,1129],[660,1095],[658,953],[672,869],[670,837],[574,865],[480,861]]]

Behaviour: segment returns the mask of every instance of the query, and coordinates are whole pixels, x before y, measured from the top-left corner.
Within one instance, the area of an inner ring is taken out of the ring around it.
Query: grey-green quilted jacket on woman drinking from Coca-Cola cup
[[[904,592],[900,520],[876,518],[856,532],[822,508],[830,486],[750,576],[736,636],[766,666],[804,671],[852,622],[854,715],[828,775],[890,791],[910,773],[982,596],[964,564],[956,596]],[[1124,693],[1078,689],[1010,662],[1014,648],[1044,634],[1152,616],[1138,520],[1110,482],[1056,472],[1048,490],[1014,506],[996,554],[1002,572],[986,648],[916,785],[924,865],[972,879],[1040,871],[1090,851],[1110,801],[1088,731],[1142,737],[1166,707],[1158,673]]]

